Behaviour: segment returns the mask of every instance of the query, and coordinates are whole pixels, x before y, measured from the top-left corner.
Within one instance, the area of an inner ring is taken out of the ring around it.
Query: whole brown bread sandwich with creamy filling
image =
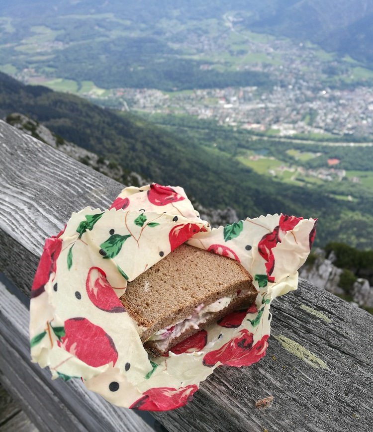
[[[154,357],[251,305],[258,294],[252,276],[236,260],[181,245],[132,282],[120,300]]]

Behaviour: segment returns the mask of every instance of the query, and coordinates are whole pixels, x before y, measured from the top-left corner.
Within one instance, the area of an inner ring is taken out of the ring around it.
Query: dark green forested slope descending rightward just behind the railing
[[[24,86],[0,74],[0,115],[11,112],[38,120],[65,140],[115,161],[124,170],[159,183],[182,185],[204,206],[232,206],[241,218],[277,212],[320,217],[318,244],[341,234],[356,243],[364,227],[366,237],[359,247],[371,245],[373,220],[354,213],[355,203],[277,183],[229,156],[187,142],[130,113],[118,115],[77,96]]]

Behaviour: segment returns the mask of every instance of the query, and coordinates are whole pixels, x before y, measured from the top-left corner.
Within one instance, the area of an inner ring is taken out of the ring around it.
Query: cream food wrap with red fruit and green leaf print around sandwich
[[[271,301],[297,287],[316,221],[267,215],[211,229],[181,187],[127,187],[108,210],[73,213],[46,240],[30,304],[32,361],[52,377],[82,378],[109,402],[163,411],[190,400],[215,367],[265,355]],[[149,358],[119,297],[182,243],[236,259],[253,275],[256,302]]]

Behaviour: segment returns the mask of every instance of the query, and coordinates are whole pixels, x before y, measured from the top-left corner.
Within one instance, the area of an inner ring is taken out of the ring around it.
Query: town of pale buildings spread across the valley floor
[[[169,94],[155,89],[124,88],[131,109],[149,113],[188,114],[219,124],[272,131],[279,136],[302,133],[373,134],[373,88],[350,90],[274,86],[197,89]]]

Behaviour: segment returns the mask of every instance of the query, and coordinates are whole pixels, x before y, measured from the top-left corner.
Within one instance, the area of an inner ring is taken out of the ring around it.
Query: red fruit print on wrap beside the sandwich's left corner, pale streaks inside
[[[86,290],[89,299],[98,309],[106,312],[125,312],[124,306],[101,268],[90,268],[86,279]]]

